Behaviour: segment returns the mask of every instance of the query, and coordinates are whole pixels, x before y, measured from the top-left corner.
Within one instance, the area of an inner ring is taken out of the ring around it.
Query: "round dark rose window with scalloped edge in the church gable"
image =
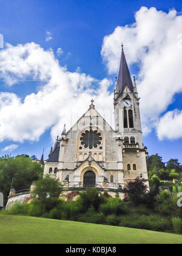
[[[84,148],[92,149],[97,148],[101,144],[101,140],[103,140],[103,138],[101,137],[100,132],[90,129],[81,134],[80,140]]]

